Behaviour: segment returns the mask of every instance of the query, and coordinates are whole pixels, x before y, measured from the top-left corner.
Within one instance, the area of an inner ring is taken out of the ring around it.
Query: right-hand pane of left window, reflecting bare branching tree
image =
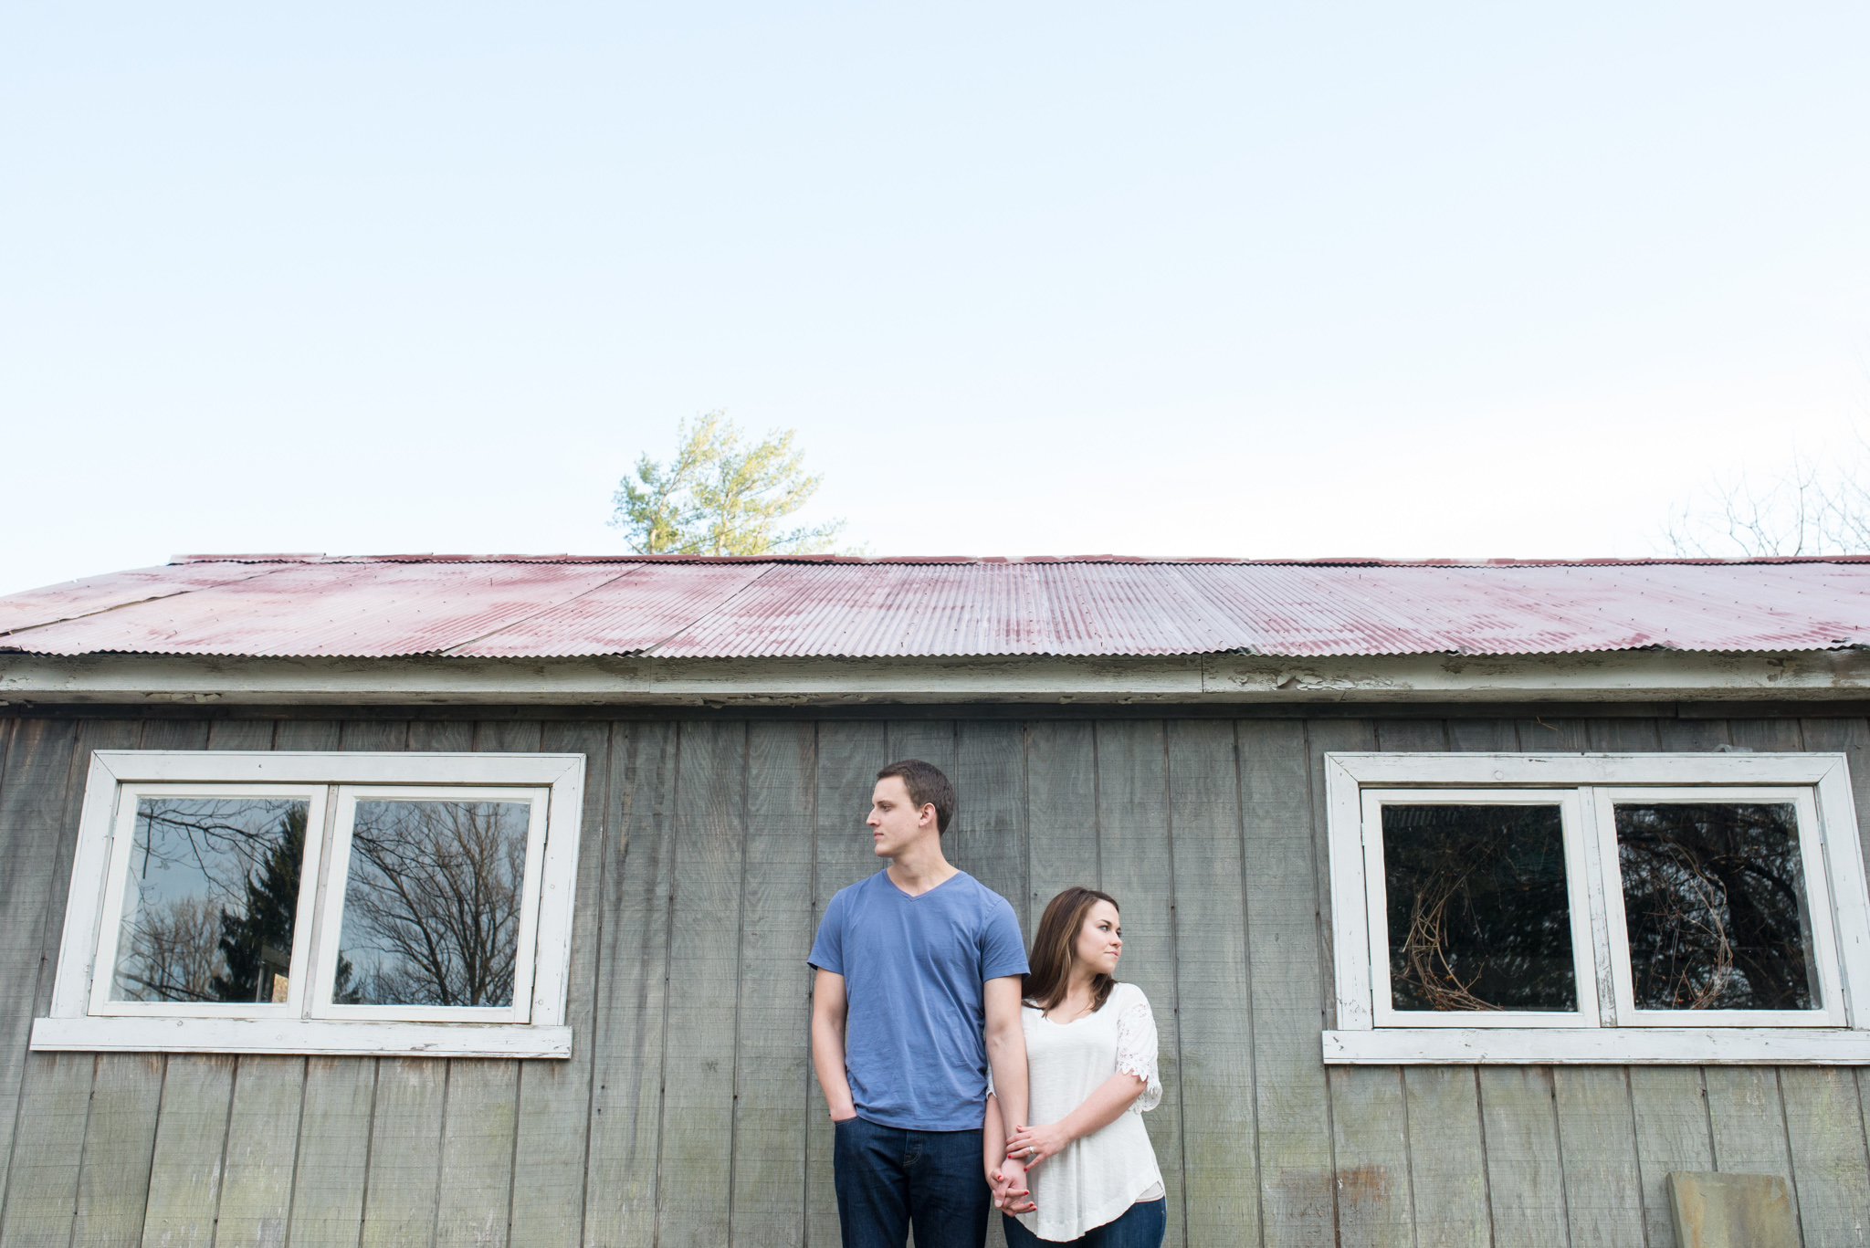
[[[524,801],[359,801],[338,1005],[512,1005]]]

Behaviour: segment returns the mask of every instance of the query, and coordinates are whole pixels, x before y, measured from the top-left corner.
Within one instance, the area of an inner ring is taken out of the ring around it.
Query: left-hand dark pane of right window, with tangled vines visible
[[[1575,1010],[1558,806],[1384,806],[1399,1010]]]

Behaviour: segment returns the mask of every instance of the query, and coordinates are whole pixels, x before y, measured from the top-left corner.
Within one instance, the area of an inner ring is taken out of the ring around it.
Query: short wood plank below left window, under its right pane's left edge
[[[282,726],[284,728],[284,726]],[[374,1057],[309,1057],[292,1179],[292,1248],[355,1248],[370,1173]]]

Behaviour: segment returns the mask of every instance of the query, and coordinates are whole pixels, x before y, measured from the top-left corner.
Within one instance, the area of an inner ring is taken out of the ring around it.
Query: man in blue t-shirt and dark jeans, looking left
[[[812,965],[812,1065],[834,1132],[843,1248],[980,1248],[987,1068],[1008,1128],[1027,1119],[1027,973],[1006,898],[941,851],[954,786],[918,760],[877,773],[866,820],[888,868],[825,907]],[[1002,1197],[1025,1192],[1008,1158]]]

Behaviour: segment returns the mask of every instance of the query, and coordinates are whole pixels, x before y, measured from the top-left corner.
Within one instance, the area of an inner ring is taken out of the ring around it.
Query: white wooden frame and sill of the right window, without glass
[[[1324,771],[1337,1005],[1326,1063],[1870,1065],[1870,896],[1842,754],[1331,752]],[[1565,861],[1580,1010],[1431,1020],[1427,1010],[1389,1009],[1380,806],[1554,793],[1571,801]],[[1709,1010],[1692,1025],[1685,1010],[1634,1009],[1610,810],[1627,799],[1797,806],[1821,1009]]]

